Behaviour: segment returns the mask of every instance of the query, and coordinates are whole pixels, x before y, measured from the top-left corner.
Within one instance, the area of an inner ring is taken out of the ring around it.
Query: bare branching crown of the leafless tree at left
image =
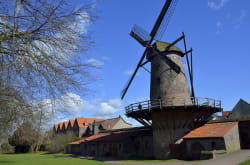
[[[0,111],[9,111],[2,105],[10,100],[29,106],[67,91],[84,92],[94,67],[83,56],[91,44],[86,24],[94,19],[92,4],[0,0]]]

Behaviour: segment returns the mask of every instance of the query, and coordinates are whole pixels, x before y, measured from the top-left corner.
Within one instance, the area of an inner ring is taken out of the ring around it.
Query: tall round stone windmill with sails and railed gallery
[[[150,100],[130,104],[125,109],[128,117],[152,126],[157,159],[169,158],[171,144],[191,129],[206,123],[213,113],[222,111],[221,101],[194,95],[192,49],[187,51],[184,33],[172,43],[155,41],[165,31],[176,3],[176,0],[166,0],[150,34],[137,25],[133,27],[130,35],[145,47],[145,51],[121,93],[123,99],[138,69],[145,69],[144,65],[151,62]],[[184,52],[175,46],[180,41],[184,43]],[[183,57],[188,65],[191,91],[182,64]]]

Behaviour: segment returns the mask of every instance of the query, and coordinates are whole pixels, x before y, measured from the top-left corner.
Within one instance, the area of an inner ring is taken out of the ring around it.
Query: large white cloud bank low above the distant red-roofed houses
[[[67,93],[60,98],[52,101],[44,99],[34,105],[39,105],[43,112],[50,116],[51,122],[59,123],[74,119],[76,117],[94,117],[94,118],[113,118],[123,115],[123,104],[120,99],[110,99],[102,101],[101,99],[93,99],[90,101],[82,99],[74,93]]]

